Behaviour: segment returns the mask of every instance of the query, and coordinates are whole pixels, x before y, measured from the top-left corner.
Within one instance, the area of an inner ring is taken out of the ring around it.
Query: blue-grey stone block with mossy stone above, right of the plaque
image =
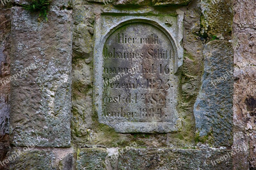
[[[204,72],[194,105],[196,141],[215,147],[233,144],[232,1],[200,3]],[[222,12],[220,12],[222,11]]]

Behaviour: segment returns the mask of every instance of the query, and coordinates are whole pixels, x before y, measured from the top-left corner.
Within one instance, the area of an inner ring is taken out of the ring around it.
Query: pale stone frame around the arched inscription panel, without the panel
[[[102,21],[101,18],[104,15],[113,15],[113,13],[102,13],[97,16],[95,20],[95,32],[94,32],[94,51],[93,51],[93,60],[94,60],[94,81],[93,81],[93,112],[97,113],[99,116],[99,122],[106,124],[108,126],[113,127],[117,132],[120,133],[170,133],[170,132],[178,132],[181,127],[181,119],[176,110],[177,106],[177,90],[178,90],[178,80],[179,78],[175,78],[175,97],[174,104],[172,108],[172,120],[167,120],[163,122],[136,122],[134,121],[120,121],[109,119],[109,117],[103,116],[102,113],[102,95],[103,95],[103,81],[102,81],[102,73],[103,73],[103,47],[108,37],[111,36],[118,28],[125,26],[131,23],[146,23],[150,24],[152,27],[156,27],[162,33],[164,33],[169,41],[172,44],[174,50],[174,65],[173,65],[173,76],[177,72],[178,68],[182,65],[183,61],[183,48],[181,47],[181,41],[183,38],[183,18],[184,13],[180,10],[177,10],[176,15],[176,29],[175,31],[170,31],[169,26],[165,24],[165,20],[157,20],[157,16],[139,16],[138,15],[128,15],[122,16],[122,20],[120,22],[112,23],[107,31],[102,33],[101,26]],[[121,16],[122,14],[115,13],[114,16]],[[128,15],[128,16],[127,16]],[[167,16],[168,17],[168,16]],[[170,16],[173,17],[173,16]],[[114,20],[113,20],[114,21]],[[110,21],[110,22],[113,22]]]

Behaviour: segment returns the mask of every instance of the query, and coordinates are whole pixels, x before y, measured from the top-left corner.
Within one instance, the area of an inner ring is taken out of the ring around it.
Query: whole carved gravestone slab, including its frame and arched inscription
[[[182,65],[183,13],[176,16],[102,14],[96,18],[94,111],[121,133],[169,133]]]

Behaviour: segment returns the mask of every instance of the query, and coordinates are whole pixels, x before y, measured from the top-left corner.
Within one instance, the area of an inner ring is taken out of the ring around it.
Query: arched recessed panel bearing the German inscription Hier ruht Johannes
[[[177,78],[167,35],[147,23],[124,25],[108,37],[102,58],[102,117],[113,123],[172,122]]]

